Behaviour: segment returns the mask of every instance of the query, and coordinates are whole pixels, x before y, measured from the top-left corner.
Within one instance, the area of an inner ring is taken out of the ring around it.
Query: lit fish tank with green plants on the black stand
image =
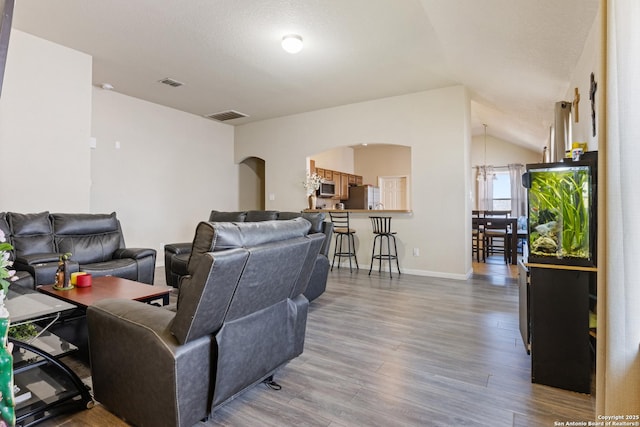
[[[529,262],[596,265],[594,159],[527,165]]]

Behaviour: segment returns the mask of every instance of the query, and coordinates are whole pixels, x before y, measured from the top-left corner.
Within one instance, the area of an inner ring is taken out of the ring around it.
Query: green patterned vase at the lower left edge
[[[7,348],[9,312],[4,306],[5,294],[0,290],[0,422],[8,426],[16,424],[13,398],[13,355]]]

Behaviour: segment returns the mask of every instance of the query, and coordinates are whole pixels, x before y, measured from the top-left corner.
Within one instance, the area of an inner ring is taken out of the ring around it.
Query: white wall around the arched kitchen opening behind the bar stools
[[[308,156],[360,142],[411,147],[413,214],[393,215],[400,266],[464,278],[471,269],[469,128],[468,94],[454,86],[241,125],[235,158],[265,159],[266,191],[276,196],[267,209],[300,210]],[[371,224],[366,214],[354,218],[358,258],[368,265]],[[420,256],[412,256],[413,248]]]

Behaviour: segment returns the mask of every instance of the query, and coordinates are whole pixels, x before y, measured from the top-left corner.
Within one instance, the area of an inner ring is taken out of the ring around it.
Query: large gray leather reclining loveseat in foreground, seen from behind
[[[324,241],[301,218],[197,226],[176,311],[87,309],[95,398],[139,426],[191,426],[302,353]],[[267,389],[265,389],[267,392]]]

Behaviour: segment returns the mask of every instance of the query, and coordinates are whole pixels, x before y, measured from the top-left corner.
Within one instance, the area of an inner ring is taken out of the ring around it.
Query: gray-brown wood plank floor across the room
[[[311,304],[304,353],[275,376],[282,390],[260,384],[201,425],[593,421],[592,396],[531,383],[515,269],[489,261],[474,270],[468,281],[334,270]],[[99,405],[53,424],[125,425]]]

